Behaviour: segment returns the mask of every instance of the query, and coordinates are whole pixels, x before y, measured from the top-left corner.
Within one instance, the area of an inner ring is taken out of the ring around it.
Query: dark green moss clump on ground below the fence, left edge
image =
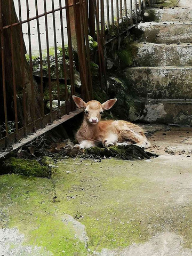
[[[42,166],[36,160],[11,157],[3,163],[6,172],[25,175],[27,177],[50,177],[48,166]]]

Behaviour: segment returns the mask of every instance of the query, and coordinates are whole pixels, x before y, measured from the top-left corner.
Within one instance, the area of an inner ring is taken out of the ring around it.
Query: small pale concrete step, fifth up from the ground
[[[146,9],[143,14],[145,21],[192,21],[192,9],[190,8],[166,8]]]

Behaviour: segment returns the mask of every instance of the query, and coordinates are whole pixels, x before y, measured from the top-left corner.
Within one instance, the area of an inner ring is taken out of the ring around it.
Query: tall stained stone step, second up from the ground
[[[137,97],[192,99],[192,67],[132,67],[124,75]]]

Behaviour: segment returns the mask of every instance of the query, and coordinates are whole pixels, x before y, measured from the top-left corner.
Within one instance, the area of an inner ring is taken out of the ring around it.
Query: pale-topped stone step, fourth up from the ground
[[[132,29],[136,39],[150,43],[191,43],[192,22],[144,22]]]

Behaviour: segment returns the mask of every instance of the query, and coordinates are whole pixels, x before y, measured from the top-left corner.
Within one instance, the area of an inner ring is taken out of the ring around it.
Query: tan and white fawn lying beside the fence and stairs
[[[150,142],[138,125],[123,120],[100,121],[103,111],[113,107],[117,99],[107,100],[102,104],[97,100],[85,103],[76,96],[73,96],[73,100],[78,108],[85,110],[83,123],[76,134],[79,145],[75,148],[90,148],[98,142],[102,142],[103,147],[130,143],[142,148],[150,147]]]

